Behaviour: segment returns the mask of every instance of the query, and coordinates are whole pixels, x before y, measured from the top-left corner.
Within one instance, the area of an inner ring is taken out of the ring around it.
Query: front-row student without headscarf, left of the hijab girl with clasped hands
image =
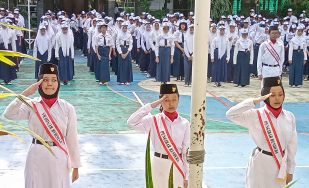
[[[112,60],[114,41],[112,36],[107,33],[107,24],[99,23],[99,25],[101,26],[101,33],[95,39],[96,54],[98,56],[96,73],[100,85],[106,85],[110,81],[109,61]]]

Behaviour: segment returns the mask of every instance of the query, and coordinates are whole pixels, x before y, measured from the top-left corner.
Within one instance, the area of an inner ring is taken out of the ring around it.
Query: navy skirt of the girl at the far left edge
[[[12,50],[12,45],[8,45],[8,49],[4,48],[4,44],[0,44],[0,50]],[[15,58],[13,57],[7,57],[11,61],[13,61],[16,64]],[[6,80],[6,81],[11,81],[15,80],[17,78],[16,74],[16,68],[17,66],[10,66],[4,62],[0,62],[0,79],[1,80]]]

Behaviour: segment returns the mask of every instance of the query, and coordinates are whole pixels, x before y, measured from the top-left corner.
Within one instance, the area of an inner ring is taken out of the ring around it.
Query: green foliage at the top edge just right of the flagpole
[[[212,0],[211,16],[215,22],[219,21],[222,15],[232,14],[232,5],[230,0]]]

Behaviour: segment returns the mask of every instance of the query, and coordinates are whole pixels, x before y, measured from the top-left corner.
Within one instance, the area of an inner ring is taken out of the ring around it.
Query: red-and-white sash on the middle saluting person
[[[182,160],[181,155],[178,152],[178,149],[177,149],[172,137],[170,136],[170,134],[168,132],[168,129],[166,127],[166,123],[165,123],[165,121],[162,117],[162,114],[159,114],[160,124],[158,124],[156,116],[153,116],[153,119],[154,119],[154,122],[155,122],[155,125],[156,125],[158,137],[160,138],[162,146],[164,147],[169,158],[173,161],[174,165],[177,167],[177,169],[181,173],[182,177],[185,179],[185,174],[183,172],[184,162]],[[161,124],[160,119],[163,123],[163,126]]]

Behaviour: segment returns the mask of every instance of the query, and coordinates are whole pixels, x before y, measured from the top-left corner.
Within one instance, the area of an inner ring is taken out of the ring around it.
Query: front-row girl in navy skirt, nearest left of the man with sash
[[[245,87],[250,84],[250,65],[253,64],[253,42],[248,39],[248,29],[240,30],[242,37],[236,42],[234,50],[234,84]]]

